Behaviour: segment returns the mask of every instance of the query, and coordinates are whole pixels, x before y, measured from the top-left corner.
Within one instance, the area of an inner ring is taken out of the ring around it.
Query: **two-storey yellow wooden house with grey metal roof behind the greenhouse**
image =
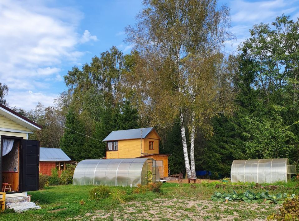
[[[153,158],[160,161],[160,177],[168,176],[169,154],[159,153],[160,137],[153,127],[115,130],[103,141],[107,142],[107,159],[115,158]]]

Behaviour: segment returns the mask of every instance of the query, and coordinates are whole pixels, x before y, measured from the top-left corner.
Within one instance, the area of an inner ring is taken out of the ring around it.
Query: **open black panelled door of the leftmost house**
[[[40,142],[37,140],[23,140],[22,190],[39,189]]]

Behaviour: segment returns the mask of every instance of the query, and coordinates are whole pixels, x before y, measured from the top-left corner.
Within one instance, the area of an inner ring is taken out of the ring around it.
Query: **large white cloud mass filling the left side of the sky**
[[[0,1],[0,82],[9,87],[7,101],[19,99],[20,107],[49,101],[46,91],[50,91],[51,81],[63,80],[61,65],[79,63],[86,52],[79,51],[78,45],[97,40],[88,30],[78,33],[81,12],[48,7],[46,3]],[[22,99],[23,93],[18,92],[23,89],[33,92],[35,96],[28,96],[32,101]],[[45,100],[36,100],[43,96]]]

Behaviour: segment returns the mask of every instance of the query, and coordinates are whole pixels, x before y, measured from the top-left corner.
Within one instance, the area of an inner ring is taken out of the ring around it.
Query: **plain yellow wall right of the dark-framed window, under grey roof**
[[[118,158],[135,158],[141,156],[140,139],[119,140],[118,141]]]

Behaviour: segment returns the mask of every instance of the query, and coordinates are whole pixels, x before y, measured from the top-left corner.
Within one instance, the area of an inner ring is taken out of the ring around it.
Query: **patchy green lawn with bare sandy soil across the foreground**
[[[278,184],[278,189],[269,190],[269,193],[299,194],[296,183]],[[42,209],[21,214],[2,213],[0,220],[265,220],[269,214],[277,213],[279,208],[279,205],[265,203],[226,203],[210,200],[215,191],[265,191],[252,184],[219,186],[216,183],[165,183],[161,193],[126,195],[125,203],[111,198],[90,200],[88,191],[92,188],[93,186],[50,186],[44,190],[29,192],[32,201]],[[129,187],[112,188],[130,192]]]

